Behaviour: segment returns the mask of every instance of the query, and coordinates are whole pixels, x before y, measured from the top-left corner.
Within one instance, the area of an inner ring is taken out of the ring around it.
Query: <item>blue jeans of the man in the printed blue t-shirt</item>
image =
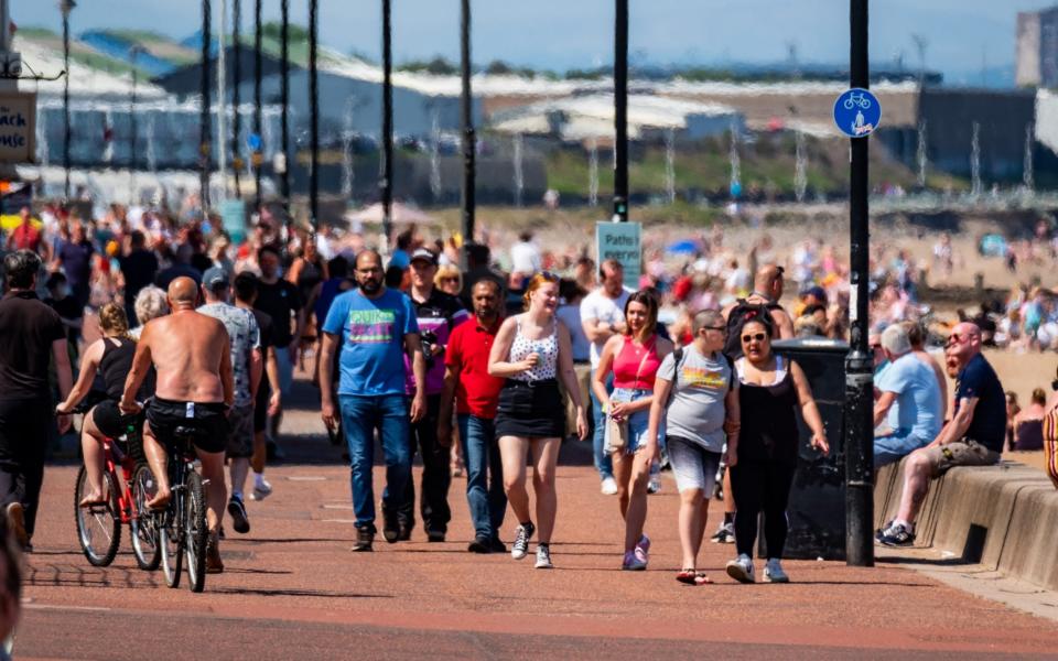
[[[411,448],[408,445],[408,399],[403,394],[339,394],[342,426],[349,444],[349,483],[356,528],[375,532],[375,430],[386,455],[384,514],[396,516],[411,479]]]

